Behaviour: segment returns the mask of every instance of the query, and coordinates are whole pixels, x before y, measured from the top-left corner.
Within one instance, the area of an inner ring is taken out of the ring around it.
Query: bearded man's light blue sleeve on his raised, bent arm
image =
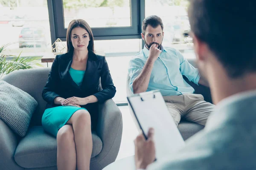
[[[143,62],[139,58],[133,58],[129,62],[129,67],[128,67],[128,74],[130,77],[130,82],[129,82],[129,88],[131,89],[131,92],[133,93],[133,82],[134,79],[136,79],[141,71],[143,69]]]

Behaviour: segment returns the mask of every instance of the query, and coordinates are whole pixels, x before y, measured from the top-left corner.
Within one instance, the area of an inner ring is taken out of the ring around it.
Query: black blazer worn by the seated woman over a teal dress
[[[116,87],[113,84],[108,63],[104,56],[96,55],[89,51],[86,71],[80,87],[73,81],[69,73],[72,61],[73,53],[68,52],[56,55],[42,93],[43,99],[47,102],[46,108],[60,106],[54,104],[54,99],[57,96],[67,99],[73,96],[87,97],[94,95],[99,100],[99,103],[103,103],[105,100],[115,96]],[[99,89],[99,78],[101,78],[102,91]],[[96,119],[98,102],[81,107],[89,111],[92,119],[93,117]]]

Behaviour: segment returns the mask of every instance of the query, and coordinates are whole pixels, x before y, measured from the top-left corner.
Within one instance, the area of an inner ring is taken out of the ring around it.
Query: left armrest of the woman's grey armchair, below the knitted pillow
[[[14,154],[19,137],[0,119],[0,169],[23,170],[16,164]]]

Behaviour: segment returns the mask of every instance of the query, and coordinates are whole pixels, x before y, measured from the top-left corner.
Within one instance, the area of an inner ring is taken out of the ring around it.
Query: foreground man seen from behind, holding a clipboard
[[[154,130],[135,139],[137,169],[256,170],[256,1],[191,0],[189,22],[198,67],[215,112],[186,146],[154,161]],[[203,74],[204,73],[204,74]],[[175,139],[174,139],[175,140]]]

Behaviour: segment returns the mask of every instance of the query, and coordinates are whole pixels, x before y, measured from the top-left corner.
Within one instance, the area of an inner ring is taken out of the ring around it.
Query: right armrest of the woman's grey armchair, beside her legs
[[[102,151],[96,159],[105,167],[115,161],[122,139],[122,113],[112,99],[99,105],[96,131],[103,143]]]

